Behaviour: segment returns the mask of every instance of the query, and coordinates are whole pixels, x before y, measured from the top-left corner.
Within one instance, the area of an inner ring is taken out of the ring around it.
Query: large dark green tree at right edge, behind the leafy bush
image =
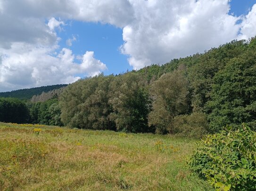
[[[206,112],[212,132],[242,122],[256,130],[256,38],[245,53],[216,74],[210,98]]]

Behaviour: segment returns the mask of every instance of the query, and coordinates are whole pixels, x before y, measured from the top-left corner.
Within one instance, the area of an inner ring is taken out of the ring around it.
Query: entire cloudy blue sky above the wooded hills
[[[256,35],[256,0],[0,0],[0,92],[119,74]]]

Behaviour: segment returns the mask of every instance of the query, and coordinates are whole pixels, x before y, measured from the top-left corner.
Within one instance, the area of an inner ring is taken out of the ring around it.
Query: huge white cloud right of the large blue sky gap
[[[132,23],[124,27],[121,50],[140,69],[152,63],[219,46],[237,38],[239,18],[228,15],[229,0],[131,0]]]

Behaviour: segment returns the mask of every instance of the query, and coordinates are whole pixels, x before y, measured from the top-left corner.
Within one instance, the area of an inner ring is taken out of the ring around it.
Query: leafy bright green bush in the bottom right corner
[[[256,190],[256,132],[246,125],[223,130],[198,143],[191,168],[217,191]]]

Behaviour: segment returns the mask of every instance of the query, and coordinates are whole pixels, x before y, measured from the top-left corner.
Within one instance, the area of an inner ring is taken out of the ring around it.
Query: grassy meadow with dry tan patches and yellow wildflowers
[[[211,191],[195,140],[0,123],[0,191]]]

